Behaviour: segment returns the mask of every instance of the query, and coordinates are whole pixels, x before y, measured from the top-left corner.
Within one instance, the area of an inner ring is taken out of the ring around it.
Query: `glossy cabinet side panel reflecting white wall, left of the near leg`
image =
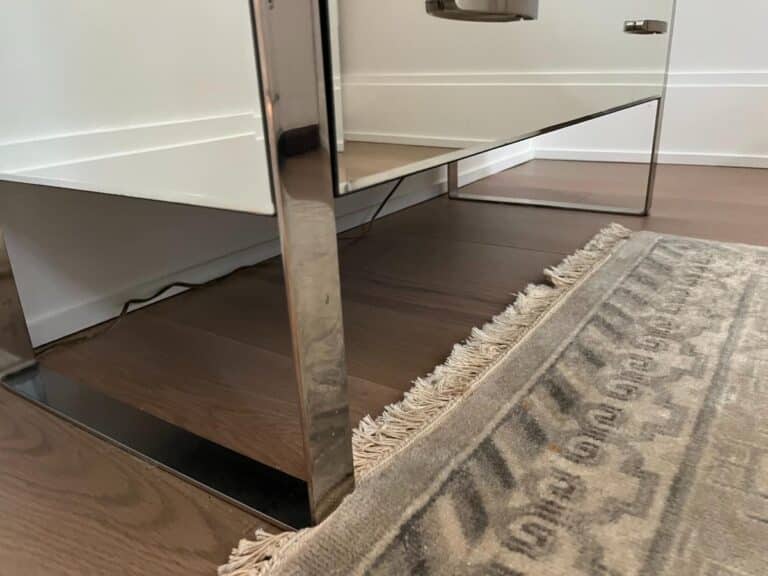
[[[247,2],[0,0],[0,13],[0,172],[272,211]],[[254,161],[238,172],[237,155]]]

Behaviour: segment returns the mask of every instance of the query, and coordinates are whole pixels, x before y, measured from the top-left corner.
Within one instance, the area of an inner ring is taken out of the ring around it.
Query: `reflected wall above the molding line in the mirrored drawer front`
[[[663,42],[628,41],[638,13],[669,16],[670,0],[541,0],[531,22],[432,18],[424,0],[339,0],[345,75],[653,70]],[[648,38],[644,40],[649,40]]]

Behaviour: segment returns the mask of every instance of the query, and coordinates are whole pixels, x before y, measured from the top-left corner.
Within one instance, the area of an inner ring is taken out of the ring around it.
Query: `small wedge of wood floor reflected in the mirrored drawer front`
[[[344,152],[339,154],[339,179],[342,182],[355,181],[453,151],[454,148],[434,146],[345,142]]]

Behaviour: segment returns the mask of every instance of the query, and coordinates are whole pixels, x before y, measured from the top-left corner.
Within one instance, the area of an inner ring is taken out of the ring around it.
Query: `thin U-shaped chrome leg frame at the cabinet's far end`
[[[648,165],[648,182],[645,188],[642,206],[632,209],[605,204],[587,204],[576,202],[558,202],[554,200],[539,200],[534,198],[513,198],[508,196],[494,196],[491,194],[470,194],[462,192],[459,186],[458,162],[448,164],[448,196],[455,200],[470,200],[475,202],[495,202],[499,204],[516,204],[522,206],[539,206],[543,208],[561,208],[564,210],[577,210],[582,212],[602,212],[607,214],[622,214],[627,216],[647,216],[650,214],[653,202],[653,189],[656,183],[656,168],[659,160],[659,144],[661,138],[661,121],[664,110],[664,97],[657,99],[656,116],[654,120],[653,149]]]

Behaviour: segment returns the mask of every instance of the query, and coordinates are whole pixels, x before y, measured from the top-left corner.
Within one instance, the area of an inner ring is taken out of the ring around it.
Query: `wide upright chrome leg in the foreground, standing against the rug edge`
[[[251,0],[314,522],[354,487],[321,4]]]

